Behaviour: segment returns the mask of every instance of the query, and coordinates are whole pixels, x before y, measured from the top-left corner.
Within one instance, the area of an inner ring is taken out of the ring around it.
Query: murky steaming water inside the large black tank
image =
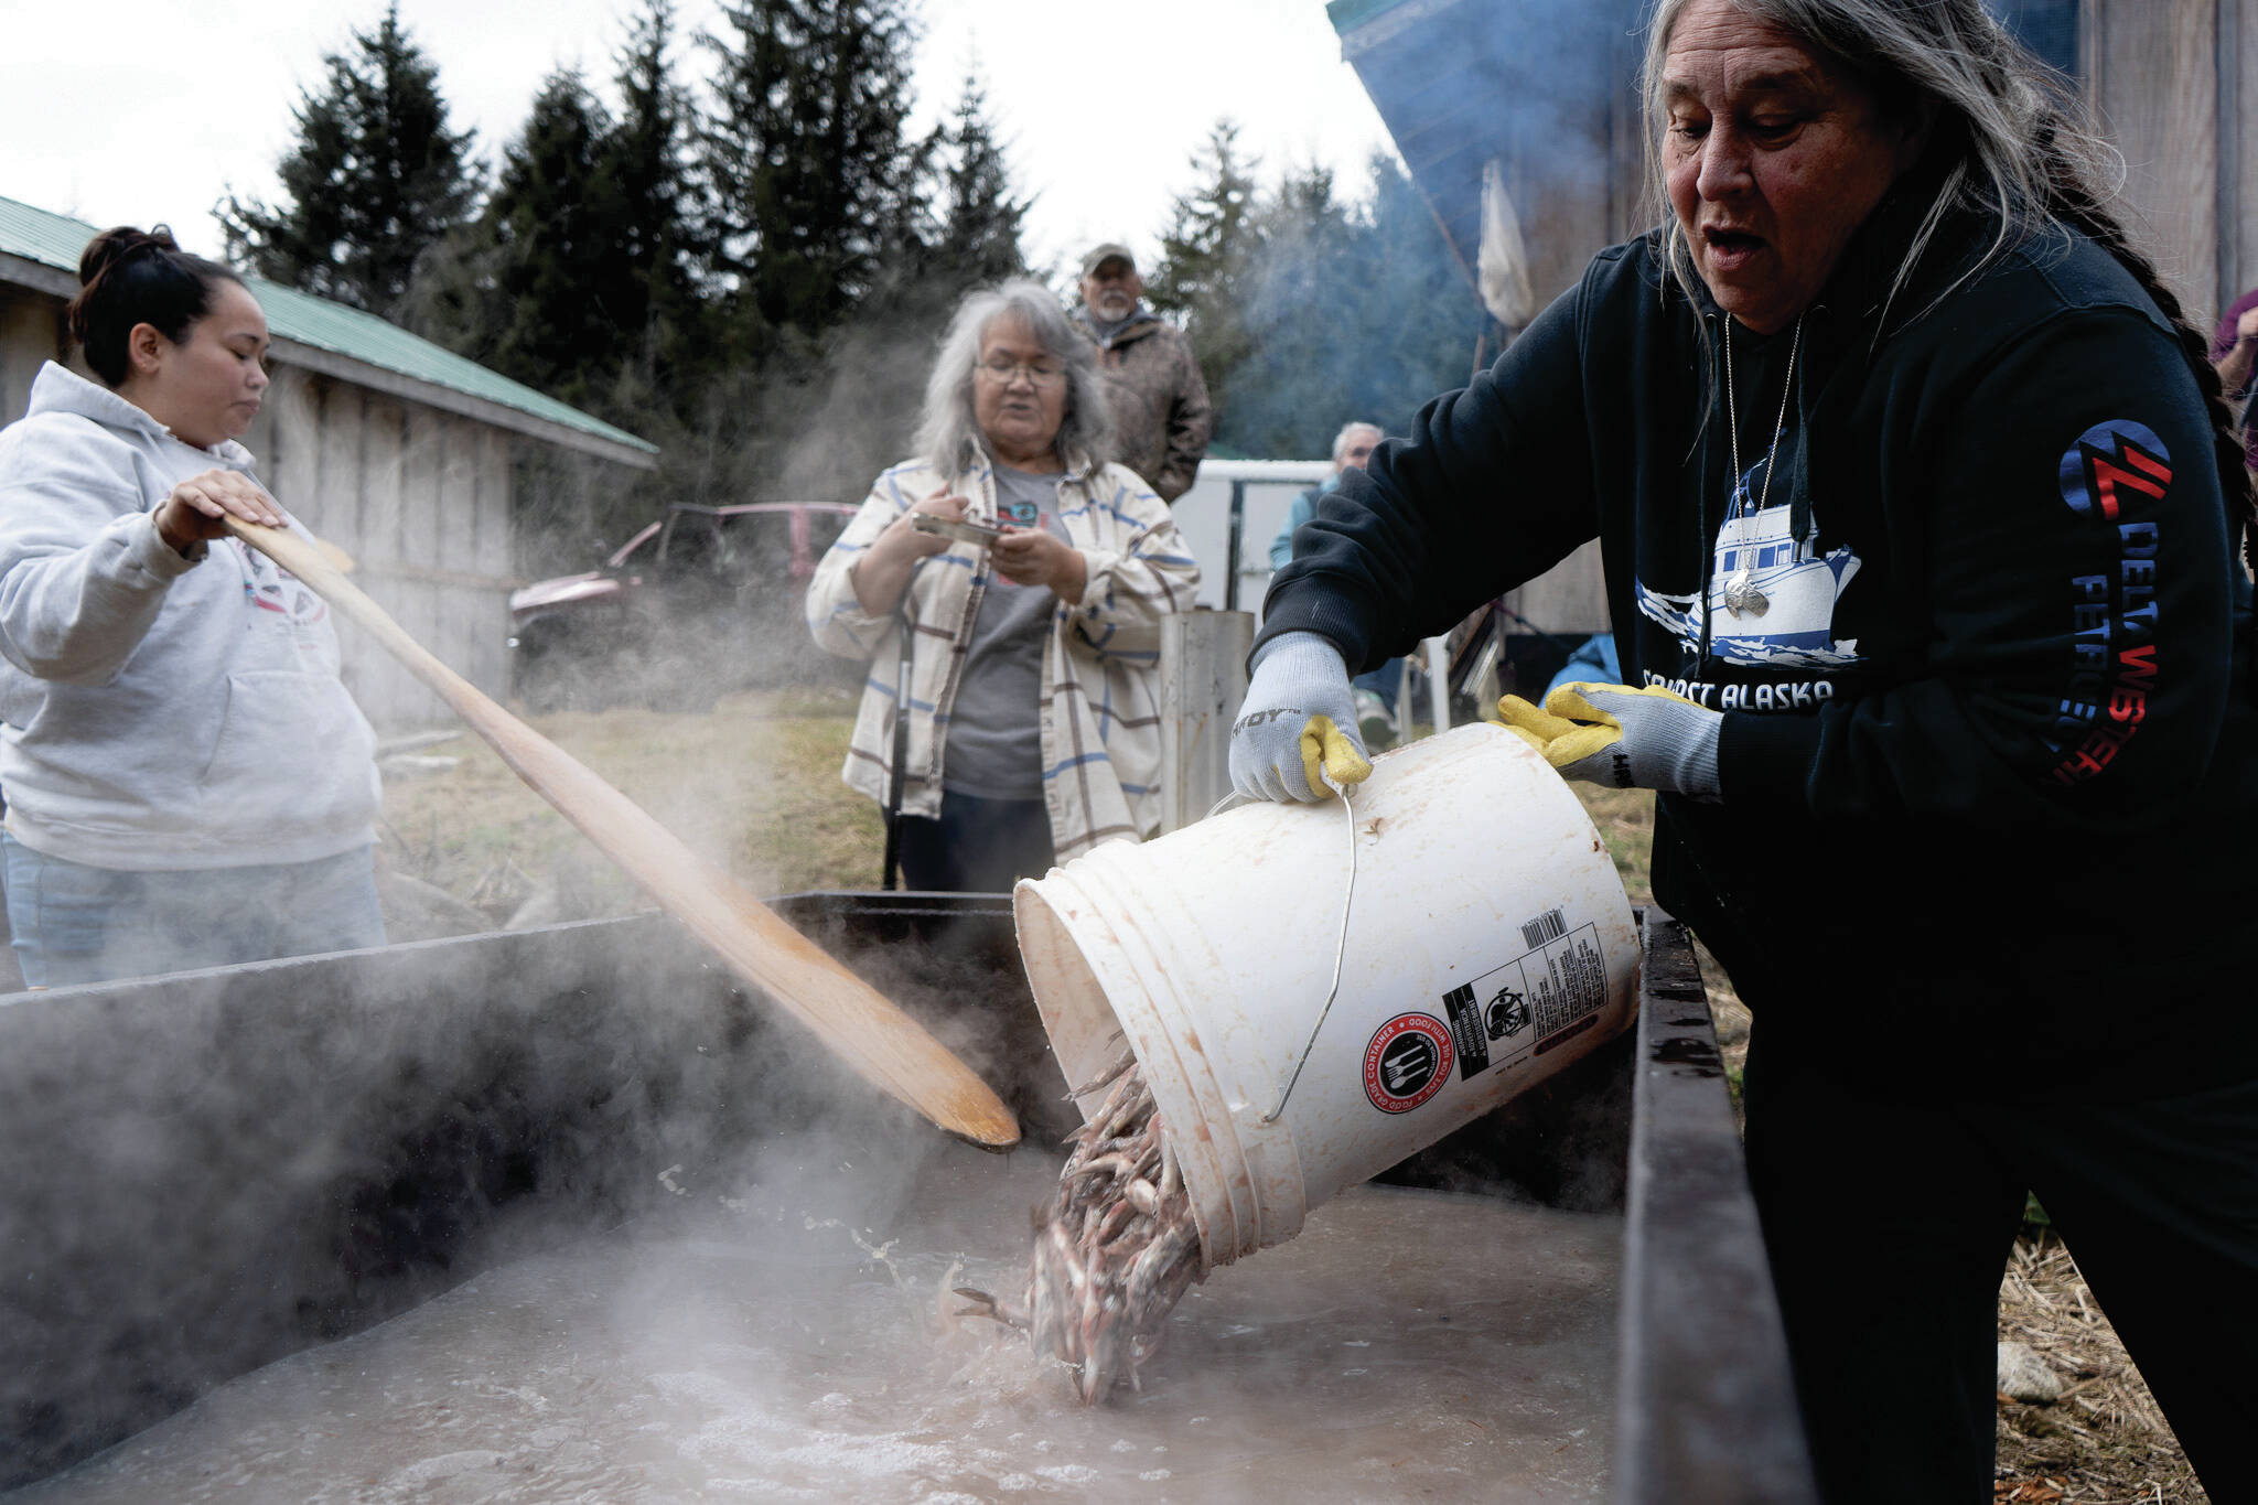
[[[1601,1498],[1619,1218],[1353,1189],[1194,1286],[1145,1390],[1084,1410],[1021,1334],[939,1315],[951,1284],[1018,1291],[1057,1164],[684,1187],[9,1498]]]

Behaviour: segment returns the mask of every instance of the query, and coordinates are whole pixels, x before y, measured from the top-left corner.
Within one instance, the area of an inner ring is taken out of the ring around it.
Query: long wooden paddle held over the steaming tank
[[[409,672],[454,706],[454,713],[470,722],[470,729],[485,738],[519,778],[623,866],[666,914],[720,952],[729,970],[813,1029],[815,1038],[865,1081],[960,1139],[994,1151],[1018,1144],[1018,1121],[1012,1110],[939,1040],[777,918],[768,905],[745,894],[736,880],[695,855],[641,806],[434,659],[314,544],[296,533],[262,528],[239,517],[228,517],[226,526],[370,632]]]

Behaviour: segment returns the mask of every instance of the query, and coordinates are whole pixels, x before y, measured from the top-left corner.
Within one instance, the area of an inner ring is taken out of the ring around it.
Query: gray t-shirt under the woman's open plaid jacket
[[[1021,528],[1059,528],[1059,476],[996,467],[996,510]],[[989,573],[948,709],[942,787],[975,799],[1043,796],[1043,639],[1059,598],[1048,584]]]

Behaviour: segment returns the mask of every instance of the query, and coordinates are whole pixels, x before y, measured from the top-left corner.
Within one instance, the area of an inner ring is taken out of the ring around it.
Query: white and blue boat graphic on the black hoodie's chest
[[[1813,553],[1797,544],[1793,508],[1754,508],[1752,485],[1763,463],[1734,490],[1734,505],[1709,555],[1709,654],[1750,668],[1840,668],[1858,661],[1858,639],[1833,634],[1836,600],[1858,573],[1849,548]],[[1696,596],[1637,584],[1639,614],[1662,623],[1700,657],[1703,618]]]

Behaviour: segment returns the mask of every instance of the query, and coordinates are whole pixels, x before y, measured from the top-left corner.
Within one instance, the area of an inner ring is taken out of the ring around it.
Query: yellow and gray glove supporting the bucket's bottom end
[[[1542,711],[1506,695],[1497,713],[1563,778],[1696,799],[1718,794],[1716,733],[1725,718],[1662,686],[1563,684]]]

